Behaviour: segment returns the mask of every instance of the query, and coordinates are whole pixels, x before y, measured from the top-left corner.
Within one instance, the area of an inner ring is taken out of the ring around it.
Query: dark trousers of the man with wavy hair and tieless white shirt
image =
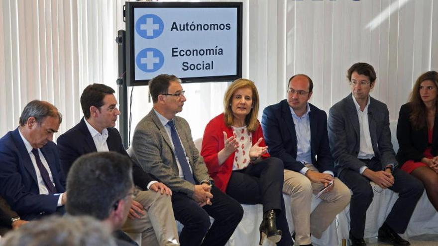
[[[373,171],[382,170],[382,165],[376,158],[364,164]],[[399,193],[399,198],[385,222],[395,232],[404,233],[415,206],[423,195],[424,187],[420,180],[398,168],[394,169],[392,175],[394,184],[388,189]],[[350,200],[350,233],[355,238],[363,238],[366,210],[373,200],[373,187],[368,178],[350,169],[343,169],[338,176],[353,192]],[[380,186],[377,188],[381,189]]]

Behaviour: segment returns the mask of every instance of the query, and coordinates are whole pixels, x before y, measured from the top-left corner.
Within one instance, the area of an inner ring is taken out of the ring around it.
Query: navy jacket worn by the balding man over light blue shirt
[[[320,172],[333,171],[334,164],[327,133],[327,114],[310,103],[309,106],[312,164]],[[304,164],[296,160],[297,134],[286,99],[263,110],[262,128],[269,154],[280,158],[284,163],[284,168],[300,171]]]

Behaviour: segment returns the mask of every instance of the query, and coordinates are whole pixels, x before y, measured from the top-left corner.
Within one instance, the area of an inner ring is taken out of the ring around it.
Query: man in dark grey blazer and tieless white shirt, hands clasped
[[[378,240],[392,245],[410,245],[398,233],[404,233],[414,208],[423,194],[423,185],[415,177],[397,168],[391,144],[389,112],[386,104],[369,96],[376,73],[367,63],[348,69],[351,93],[329,111],[329,145],[338,177],[352,191],[350,201],[350,240],[353,246],[363,240],[365,213],[373,199],[373,181],[382,189],[399,193]]]

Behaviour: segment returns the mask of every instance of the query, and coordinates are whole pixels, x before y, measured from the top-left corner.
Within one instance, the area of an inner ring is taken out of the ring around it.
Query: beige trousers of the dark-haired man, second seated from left
[[[128,218],[122,231],[139,246],[180,245],[171,196],[146,190],[138,192],[134,200],[143,205],[146,214],[135,220]]]

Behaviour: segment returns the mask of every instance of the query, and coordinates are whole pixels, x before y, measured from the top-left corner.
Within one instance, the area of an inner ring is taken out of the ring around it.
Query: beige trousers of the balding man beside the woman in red
[[[312,171],[318,171],[313,164],[306,164]],[[321,238],[336,215],[350,202],[350,190],[339,179],[335,178],[333,189],[323,193],[322,202],[310,213],[312,193],[324,188],[321,182],[312,182],[300,172],[284,170],[283,192],[291,196],[291,213],[294,223],[295,241],[299,245],[311,244],[310,234]]]

